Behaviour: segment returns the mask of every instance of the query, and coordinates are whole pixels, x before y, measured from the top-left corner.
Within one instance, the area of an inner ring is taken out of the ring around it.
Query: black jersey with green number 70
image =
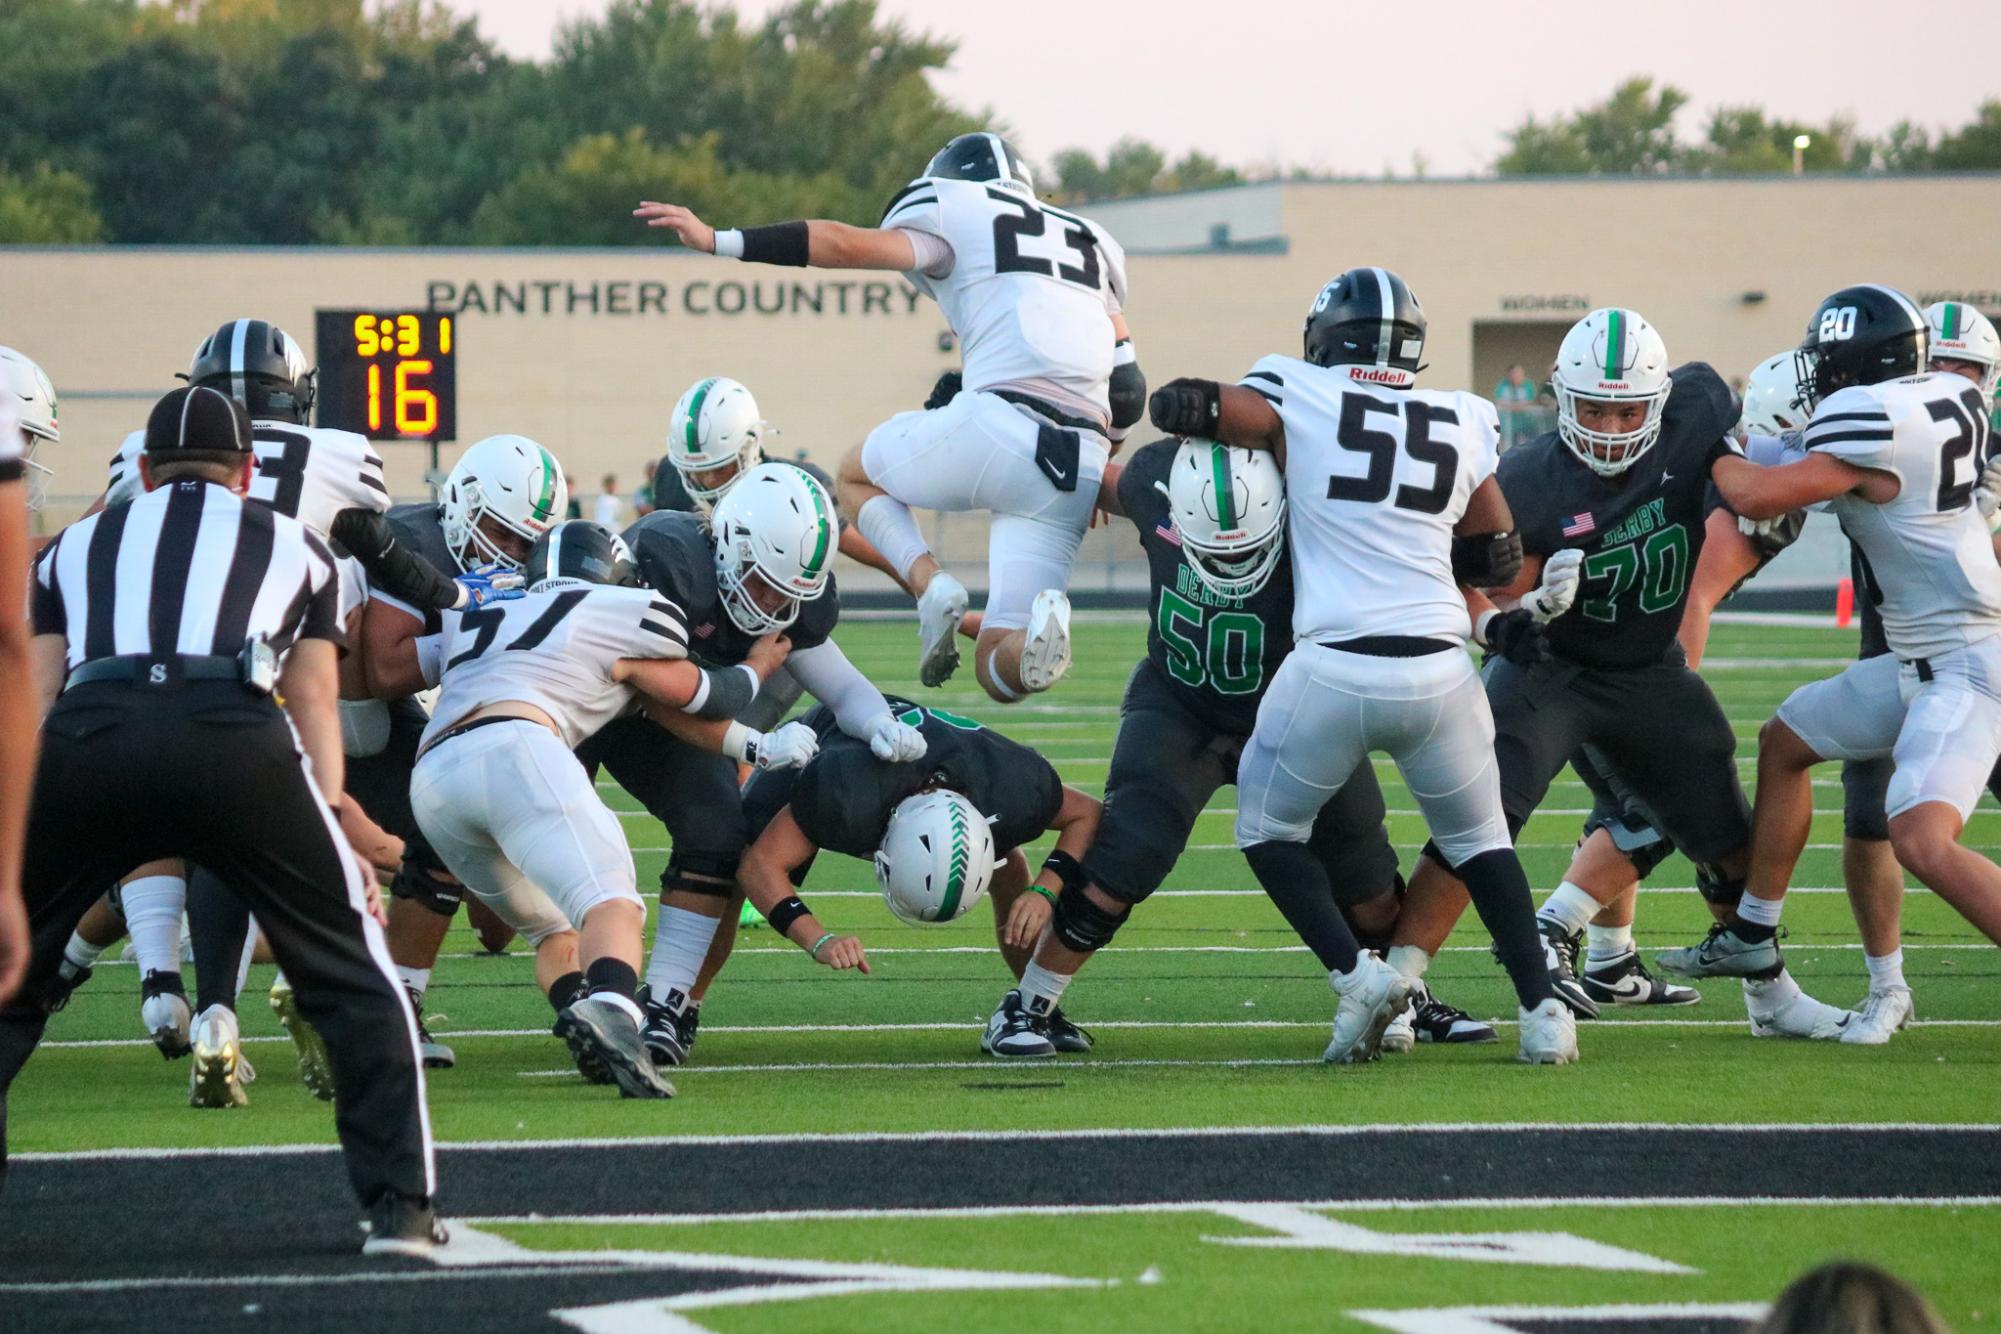
[[[1577,602],[1549,622],[1549,644],[1589,668],[1659,662],[1703,554],[1709,468],[1731,452],[1737,396],[1707,362],[1677,366],[1671,378],[1661,438],[1617,476],[1587,468],[1557,432],[1501,456],[1501,494],[1523,550],[1585,554]]]

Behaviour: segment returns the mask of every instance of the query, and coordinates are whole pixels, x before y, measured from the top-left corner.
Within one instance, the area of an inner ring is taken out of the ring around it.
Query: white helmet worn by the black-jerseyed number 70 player
[[[1675,388],[1667,378],[1667,344],[1633,310],[1607,306],[1571,326],[1557,348],[1551,388],[1557,390],[1557,434],[1599,476],[1617,476],[1661,438],[1661,412]],[[1643,402],[1639,430],[1613,434],[1585,430],[1577,402]]]

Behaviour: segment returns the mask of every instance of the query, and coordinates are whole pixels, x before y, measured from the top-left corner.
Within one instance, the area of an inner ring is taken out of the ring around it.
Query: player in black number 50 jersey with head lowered
[[[1099,504],[1129,518],[1147,552],[1147,656],[1127,684],[1097,838],[1081,862],[1057,862],[1065,892],[1055,920],[986,1022],[980,1046],[994,1056],[1063,1050],[1047,1022],[1063,988],[1161,886],[1217,788],[1237,782],[1265,686],[1293,650],[1285,480],[1269,456],[1157,440],[1113,466]],[[1309,846],[1337,900],[1279,902],[1301,938],[1315,946],[1339,914],[1365,944],[1387,942],[1403,882],[1373,768],[1321,810]],[[1495,1040],[1429,994],[1415,1010],[1429,1040]]]

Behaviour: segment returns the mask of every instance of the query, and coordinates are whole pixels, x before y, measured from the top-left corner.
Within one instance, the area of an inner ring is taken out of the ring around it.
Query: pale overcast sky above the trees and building
[[[448,0],[508,52],[546,56],[558,18],[606,0]],[[740,0],[762,16],[780,0]],[[956,40],[952,102],[1009,122],[1023,152],[1103,152],[1137,134],[1169,152],[1329,174],[1483,170],[1501,132],[1603,98],[1629,74],[1701,112],[1763,104],[1865,134],[1955,126],[2001,96],[2001,0],[880,0]],[[1905,16],[1905,22],[1899,22]]]

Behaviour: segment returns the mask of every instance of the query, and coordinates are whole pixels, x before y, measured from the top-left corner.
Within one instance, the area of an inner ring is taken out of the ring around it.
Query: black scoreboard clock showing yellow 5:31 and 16
[[[458,324],[436,310],[320,310],[320,426],[370,440],[458,438]]]

